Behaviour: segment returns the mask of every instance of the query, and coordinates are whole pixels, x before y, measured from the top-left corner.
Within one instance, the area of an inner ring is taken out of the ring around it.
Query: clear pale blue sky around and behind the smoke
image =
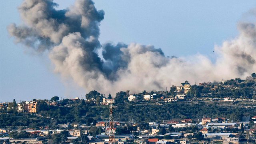
[[[54,0],[63,9],[74,1]],[[162,48],[166,56],[204,54],[215,60],[214,45],[238,35],[237,23],[256,6],[255,0],[94,0],[105,16],[100,42],[136,42]],[[86,90],[54,74],[48,55],[37,56],[15,44],[6,27],[22,24],[22,0],[0,1],[0,102],[74,98]]]

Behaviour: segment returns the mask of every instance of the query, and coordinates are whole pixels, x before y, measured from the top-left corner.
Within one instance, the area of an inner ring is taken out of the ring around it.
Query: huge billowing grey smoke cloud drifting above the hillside
[[[56,5],[52,0],[25,0],[19,11],[26,25],[11,24],[9,33],[36,52],[48,52],[54,72],[87,91],[164,90],[184,80],[245,78],[256,71],[254,23],[238,24],[239,36],[216,46],[218,58],[212,63],[201,54],[168,58],[154,46],[101,46],[99,24],[104,11],[97,11],[91,0],[77,0],[67,10],[56,10]],[[99,48],[103,59],[97,54]]]

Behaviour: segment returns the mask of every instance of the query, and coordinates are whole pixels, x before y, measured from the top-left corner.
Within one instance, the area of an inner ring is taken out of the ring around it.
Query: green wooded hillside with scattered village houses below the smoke
[[[85,98],[2,102],[0,144],[107,144],[109,104],[118,144],[256,143],[255,93],[252,75],[114,98],[91,91]]]

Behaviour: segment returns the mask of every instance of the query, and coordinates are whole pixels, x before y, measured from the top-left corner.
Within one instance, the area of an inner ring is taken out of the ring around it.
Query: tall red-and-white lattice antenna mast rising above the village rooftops
[[[112,102],[109,104],[109,136],[108,136],[108,144],[114,144],[115,142],[115,134],[114,134],[114,117],[113,117],[113,104]]]

